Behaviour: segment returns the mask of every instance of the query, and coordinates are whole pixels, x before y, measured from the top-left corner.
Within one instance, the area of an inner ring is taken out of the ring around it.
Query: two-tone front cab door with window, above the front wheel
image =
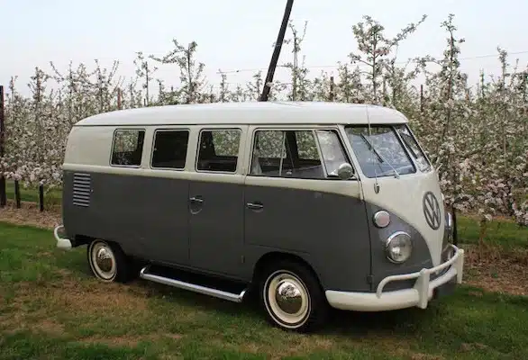
[[[257,129],[244,190],[250,263],[280,251],[305,258],[326,288],[369,290],[369,229],[360,183],[337,130]],[[333,174],[333,175],[332,175]]]

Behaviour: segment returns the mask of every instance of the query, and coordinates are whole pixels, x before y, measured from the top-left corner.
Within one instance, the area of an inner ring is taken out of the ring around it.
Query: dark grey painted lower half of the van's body
[[[97,173],[91,174],[91,186],[90,206],[74,206],[72,173],[65,172],[68,236],[114,240],[127,254],[154,263],[249,283],[260,257],[287,252],[305,259],[324,289],[343,292],[375,291],[387,275],[432,266],[429,249],[412,226],[392,213],[390,225],[378,229],[372,223],[378,207],[350,196]],[[204,202],[189,202],[197,195]],[[248,202],[263,208],[250,209]],[[413,256],[404,265],[385,257],[385,239],[396,230],[414,239]],[[386,291],[413,284],[388,284]]]

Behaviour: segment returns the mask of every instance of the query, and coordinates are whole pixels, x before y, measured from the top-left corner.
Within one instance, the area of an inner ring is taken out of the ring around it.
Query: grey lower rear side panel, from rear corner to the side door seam
[[[72,183],[65,171],[63,221],[70,238],[104,238],[133,256],[188,264],[187,180],[92,173],[89,207],[73,205]]]

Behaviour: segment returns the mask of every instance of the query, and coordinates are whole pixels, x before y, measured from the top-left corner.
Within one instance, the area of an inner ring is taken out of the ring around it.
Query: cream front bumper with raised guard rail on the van
[[[349,311],[389,311],[418,307],[426,309],[432,299],[435,289],[449,283],[456,277],[457,284],[462,283],[464,270],[464,250],[452,244],[453,256],[439,266],[422,269],[419,272],[387,276],[378,284],[376,293],[349,293],[327,290],[325,292],[328,303],[336,309]],[[449,268],[444,274],[431,280],[431,274]],[[391,282],[416,279],[414,287],[383,293],[383,288]]]

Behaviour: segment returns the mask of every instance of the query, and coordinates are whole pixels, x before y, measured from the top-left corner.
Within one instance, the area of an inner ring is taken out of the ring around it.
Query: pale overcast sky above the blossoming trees
[[[208,83],[218,85],[218,69],[263,68],[269,65],[271,45],[276,40],[286,0],[0,0],[0,84],[8,85],[19,76],[19,89],[25,90],[34,67],[50,69],[53,61],[66,70],[69,61],[93,67],[97,58],[111,67],[121,62],[119,74],[133,75],[136,51],[163,56],[173,38],[187,44],[196,40],[197,57],[205,63]],[[398,50],[405,60],[426,54],[442,56],[446,33],[440,23],[448,14],[462,44],[463,70],[477,81],[478,71],[498,70],[496,54],[500,46],[524,66],[528,63],[526,21],[527,0],[296,0],[291,19],[299,31],[308,21],[303,54],[311,72],[335,71],[337,61],[347,61],[356,49],[351,25],[370,15],[394,35],[407,23],[420,25]],[[289,48],[283,48],[280,62],[289,61]],[[484,56],[484,57],[483,57]],[[479,58],[476,58],[479,57]],[[333,66],[333,67],[332,67]],[[243,83],[253,72],[228,75],[230,83]],[[157,76],[178,85],[178,70],[162,67]],[[276,79],[287,79],[282,70]],[[25,91],[24,91],[25,92]]]

